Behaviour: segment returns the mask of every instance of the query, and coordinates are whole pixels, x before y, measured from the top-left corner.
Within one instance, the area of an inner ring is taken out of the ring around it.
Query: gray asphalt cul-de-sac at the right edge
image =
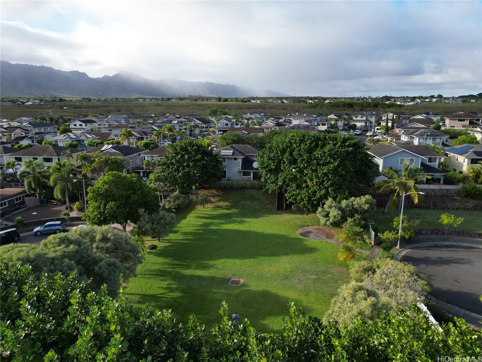
[[[482,314],[482,248],[466,245],[431,245],[410,249],[402,262],[413,264],[432,282],[435,298],[469,312]]]

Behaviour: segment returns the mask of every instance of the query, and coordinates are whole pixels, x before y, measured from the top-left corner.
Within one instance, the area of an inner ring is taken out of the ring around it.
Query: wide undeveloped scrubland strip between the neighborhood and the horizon
[[[68,107],[63,109],[63,107]],[[103,114],[155,114],[163,115],[166,113],[177,113],[180,115],[187,113],[197,113],[201,116],[206,115],[206,111],[211,107],[225,109],[228,114],[233,113],[272,113],[278,115],[284,112],[302,112],[302,113],[334,113],[347,111],[354,113],[361,111],[361,109],[342,109],[342,108],[313,108],[304,103],[238,103],[238,102],[60,102],[54,103],[52,106],[2,106],[0,108],[1,118],[15,119],[18,117],[38,117],[46,111],[51,110],[54,114],[62,116],[73,115],[90,115],[97,112]],[[428,104],[428,105],[411,105],[403,108],[378,108],[376,111],[383,113],[385,111],[392,111],[404,114],[408,111],[410,114],[417,114],[425,111],[434,111],[442,115],[449,115],[457,111],[476,111],[482,113],[482,103],[462,103],[462,104]]]

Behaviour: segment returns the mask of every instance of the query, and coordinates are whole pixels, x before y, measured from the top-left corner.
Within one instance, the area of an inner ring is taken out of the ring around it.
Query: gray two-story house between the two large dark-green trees
[[[258,181],[260,180],[256,155],[261,151],[246,144],[232,144],[214,153],[223,158],[223,180]]]

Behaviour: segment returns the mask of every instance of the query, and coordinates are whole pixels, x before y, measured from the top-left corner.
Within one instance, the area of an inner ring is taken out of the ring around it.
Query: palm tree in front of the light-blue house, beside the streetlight
[[[407,165],[404,163],[401,175],[399,175],[397,170],[393,170],[391,168],[384,169],[382,171],[382,175],[387,176],[388,180],[380,180],[376,182],[375,188],[377,188],[382,194],[391,194],[387,201],[387,205],[383,210],[384,213],[387,213],[388,209],[395,209],[398,205],[398,216],[401,206],[399,204],[402,201],[403,192],[405,192],[405,194],[411,193],[410,197],[415,204],[417,204],[419,200],[423,199],[423,195],[419,194],[420,189],[415,184],[417,182],[422,183],[425,181],[426,176],[423,173],[422,168],[414,168],[413,165]]]

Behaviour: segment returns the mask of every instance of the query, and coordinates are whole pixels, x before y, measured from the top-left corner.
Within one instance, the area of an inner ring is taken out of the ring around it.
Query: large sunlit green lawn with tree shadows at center
[[[337,289],[349,281],[338,247],[298,236],[320,223],[316,214],[274,211],[259,190],[213,192],[206,209],[176,215],[178,224],[159,248],[147,251],[125,288],[134,304],[170,308],[185,323],[196,314],[211,328],[223,300],[263,332],[279,330],[288,301],[322,317]],[[148,242],[150,243],[150,241]],[[229,286],[229,278],[242,278]]]

